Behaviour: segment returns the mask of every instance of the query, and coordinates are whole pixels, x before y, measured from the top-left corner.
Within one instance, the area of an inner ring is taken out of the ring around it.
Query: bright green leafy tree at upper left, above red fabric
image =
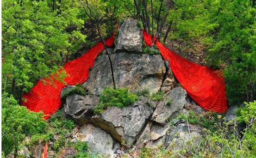
[[[62,3],[51,10],[47,1],[2,1],[2,88],[19,96],[19,104],[23,92],[56,73],[65,56],[68,61],[67,54],[85,43],[80,8],[77,3]],[[58,75],[66,76],[63,71]]]

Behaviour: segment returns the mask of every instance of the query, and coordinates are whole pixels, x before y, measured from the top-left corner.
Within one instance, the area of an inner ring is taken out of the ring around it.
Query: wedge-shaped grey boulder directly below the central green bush
[[[153,110],[148,103],[137,101],[125,108],[111,107],[102,114],[96,114],[91,122],[112,135],[120,143],[125,140],[131,146],[148,121]]]

